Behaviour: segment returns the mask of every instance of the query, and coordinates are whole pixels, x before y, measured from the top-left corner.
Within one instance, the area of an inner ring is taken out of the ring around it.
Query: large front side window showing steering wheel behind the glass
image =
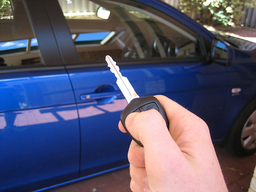
[[[58,0],[81,61],[202,56],[199,37],[154,9],[113,1]]]

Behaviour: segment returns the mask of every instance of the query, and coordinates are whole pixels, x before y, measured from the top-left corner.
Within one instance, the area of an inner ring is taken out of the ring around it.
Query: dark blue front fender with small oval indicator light
[[[243,108],[250,104],[256,96],[256,67],[255,51],[243,51],[234,48],[235,58],[227,67],[228,91],[227,102],[220,121],[222,127],[221,135],[227,135]],[[244,58],[244,59],[242,59]],[[246,61],[245,61],[246,58]],[[232,93],[233,88],[240,88],[241,91]]]

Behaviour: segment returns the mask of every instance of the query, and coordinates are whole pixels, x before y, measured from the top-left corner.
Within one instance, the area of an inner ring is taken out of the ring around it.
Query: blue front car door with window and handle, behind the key
[[[225,66],[207,60],[213,35],[158,1],[58,2],[68,24],[62,33],[70,31],[66,38],[79,58],[66,68],[80,120],[81,175],[127,163],[131,139],[117,128],[127,103],[106,55],[140,96],[166,95],[203,118],[219,139],[227,75]]]

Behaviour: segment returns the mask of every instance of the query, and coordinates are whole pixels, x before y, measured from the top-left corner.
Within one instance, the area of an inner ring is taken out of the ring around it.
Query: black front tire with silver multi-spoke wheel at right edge
[[[256,152],[256,98],[236,119],[228,137],[228,149],[238,156]]]

